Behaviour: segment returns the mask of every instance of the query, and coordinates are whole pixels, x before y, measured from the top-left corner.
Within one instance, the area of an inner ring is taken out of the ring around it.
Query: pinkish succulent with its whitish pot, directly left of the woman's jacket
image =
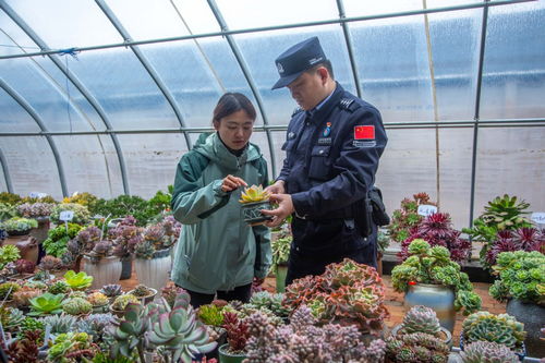
[[[155,290],[167,283],[172,265],[170,249],[177,241],[174,225],[170,219],[146,227],[143,239],[132,246],[140,283]]]

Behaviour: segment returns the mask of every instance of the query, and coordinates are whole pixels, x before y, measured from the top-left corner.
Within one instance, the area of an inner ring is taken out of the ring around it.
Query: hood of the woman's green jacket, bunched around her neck
[[[195,143],[194,150],[230,170],[239,170],[244,164],[262,156],[259,147],[252,143],[249,143],[241,156],[234,156],[223,145],[217,132],[201,134]]]

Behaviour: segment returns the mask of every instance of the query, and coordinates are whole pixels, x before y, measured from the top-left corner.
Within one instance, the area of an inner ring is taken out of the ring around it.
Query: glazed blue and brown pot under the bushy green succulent
[[[450,332],[455,330],[456,310],[455,291],[443,285],[411,285],[405,292],[403,306],[405,312],[416,305],[431,307],[437,314],[441,327]]]

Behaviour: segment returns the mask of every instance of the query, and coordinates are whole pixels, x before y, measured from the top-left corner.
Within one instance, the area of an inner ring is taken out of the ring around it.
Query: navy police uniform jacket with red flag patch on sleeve
[[[295,208],[296,251],[342,254],[366,244],[354,206],[373,186],[386,143],[378,110],[339,84],[319,109],[293,113],[278,179]]]

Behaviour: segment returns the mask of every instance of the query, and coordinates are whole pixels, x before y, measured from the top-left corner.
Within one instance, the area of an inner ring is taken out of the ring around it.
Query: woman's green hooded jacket
[[[221,191],[228,174],[249,186],[267,185],[267,162],[249,144],[240,157],[217,133],[202,134],[178,164],[172,211],[182,225],[171,279],[191,291],[213,294],[265,278],[270,266],[270,232],[250,227],[241,217],[241,189]]]

